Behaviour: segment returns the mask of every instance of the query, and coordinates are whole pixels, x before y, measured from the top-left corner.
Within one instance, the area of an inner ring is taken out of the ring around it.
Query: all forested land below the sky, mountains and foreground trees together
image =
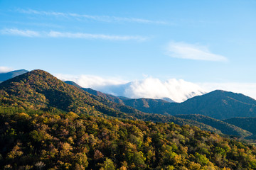
[[[38,69],[0,81],[0,169],[256,169],[248,96],[126,98]]]

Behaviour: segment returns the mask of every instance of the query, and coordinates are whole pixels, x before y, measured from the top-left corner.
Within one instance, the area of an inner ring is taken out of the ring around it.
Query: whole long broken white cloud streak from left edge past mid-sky
[[[35,30],[19,30],[19,29],[3,29],[0,30],[2,35],[17,35],[23,37],[41,37],[41,38],[81,38],[81,39],[101,39],[101,40],[138,40],[144,41],[147,38],[132,35],[105,35],[105,34],[89,34],[89,33],[69,33],[59,31],[35,31]]]

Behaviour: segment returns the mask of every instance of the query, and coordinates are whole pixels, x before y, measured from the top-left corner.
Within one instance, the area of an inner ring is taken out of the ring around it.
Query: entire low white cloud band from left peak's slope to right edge
[[[193,96],[208,93],[217,89],[245,94],[256,98],[256,83],[191,83],[183,79],[168,79],[161,81],[147,77],[142,80],[124,81],[121,79],[104,79],[92,75],[56,74],[61,80],[70,80],[85,88],[95,89],[114,96],[128,98],[170,98],[176,102],[186,101]]]

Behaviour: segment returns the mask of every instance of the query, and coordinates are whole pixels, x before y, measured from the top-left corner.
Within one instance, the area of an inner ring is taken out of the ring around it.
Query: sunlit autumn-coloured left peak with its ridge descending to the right
[[[100,96],[66,84],[43,70],[33,70],[0,84],[1,107],[12,106],[33,110],[51,108],[78,114],[114,116],[117,118],[140,119],[152,122],[174,122],[178,125],[196,125],[203,130],[221,133],[209,125],[184,120],[172,115],[142,113],[135,108],[108,101]]]

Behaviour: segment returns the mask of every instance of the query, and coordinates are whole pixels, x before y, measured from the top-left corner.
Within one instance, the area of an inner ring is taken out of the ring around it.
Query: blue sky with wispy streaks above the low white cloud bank
[[[0,67],[255,84],[256,1],[0,1]]]

